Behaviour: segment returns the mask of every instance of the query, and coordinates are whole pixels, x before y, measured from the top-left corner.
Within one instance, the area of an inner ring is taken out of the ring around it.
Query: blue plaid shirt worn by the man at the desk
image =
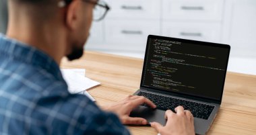
[[[129,134],[115,114],[67,91],[57,63],[0,34],[0,134]]]

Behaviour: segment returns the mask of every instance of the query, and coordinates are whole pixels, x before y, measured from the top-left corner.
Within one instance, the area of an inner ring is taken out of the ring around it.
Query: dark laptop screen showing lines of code
[[[221,100],[230,46],[149,36],[141,86]]]

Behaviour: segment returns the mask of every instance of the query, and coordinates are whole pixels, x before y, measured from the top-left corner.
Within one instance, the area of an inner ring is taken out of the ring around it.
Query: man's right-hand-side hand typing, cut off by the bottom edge
[[[161,135],[195,135],[194,118],[190,111],[184,110],[182,106],[175,108],[177,114],[171,110],[167,110],[165,118],[166,126],[162,126],[158,122],[151,122],[151,126]]]

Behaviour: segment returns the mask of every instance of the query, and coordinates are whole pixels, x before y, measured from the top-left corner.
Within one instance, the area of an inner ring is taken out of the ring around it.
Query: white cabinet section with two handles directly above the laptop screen
[[[163,0],[162,35],[221,42],[223,0]]]

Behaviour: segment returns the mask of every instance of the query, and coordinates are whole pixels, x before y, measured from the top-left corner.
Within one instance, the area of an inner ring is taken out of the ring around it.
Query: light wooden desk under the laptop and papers
[[[98,105],[117,102],[139,89],[143,60],[98,52],[86,52],[62,68],[84,68],[100,86],[88,92]],[[255,69],[256,70],[256,69]],[[132,134],[156,135],[150,127],[129,126]],[[256,134],[256,76],[228,73],[220,111],[208,134]]]

